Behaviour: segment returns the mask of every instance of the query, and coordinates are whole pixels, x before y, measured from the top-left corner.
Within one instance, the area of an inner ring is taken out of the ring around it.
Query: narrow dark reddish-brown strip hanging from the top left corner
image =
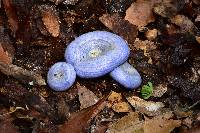
[[[19,29],[18,18],[16,15],[15,8],[13,7],[11,0],[2,0],[2,2],[6,11],[6,15],[8,17],[10,29],[12,30],[13,36],[15,37],[15,34]]]

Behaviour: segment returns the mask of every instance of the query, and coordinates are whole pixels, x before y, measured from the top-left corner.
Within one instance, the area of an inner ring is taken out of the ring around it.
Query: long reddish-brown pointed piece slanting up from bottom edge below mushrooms
[[[100,99],[95,105],[84,109],[74,115],[59,127],[59,133],[82,133],[89,127],[91,120],[106,106],[106,97]]]

